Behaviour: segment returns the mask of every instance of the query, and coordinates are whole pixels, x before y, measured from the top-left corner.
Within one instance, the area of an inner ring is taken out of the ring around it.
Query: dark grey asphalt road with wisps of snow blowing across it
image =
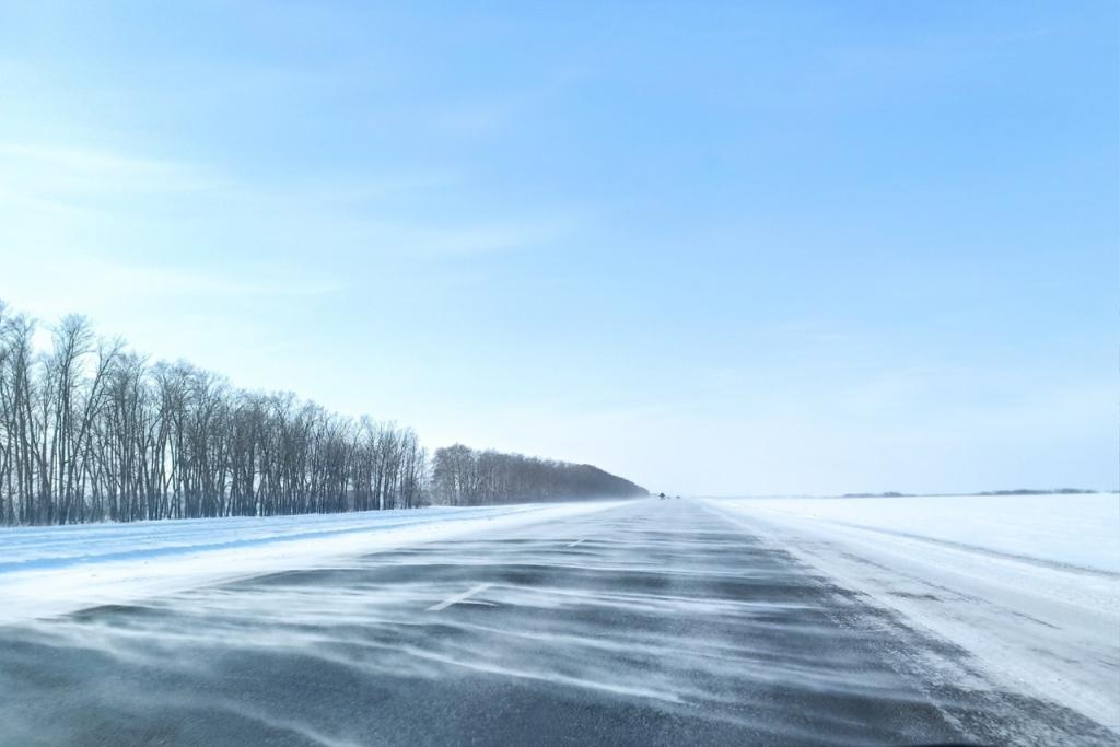
[[[648,499],[0,628],[0,745],[1109,739],[959,655]]]

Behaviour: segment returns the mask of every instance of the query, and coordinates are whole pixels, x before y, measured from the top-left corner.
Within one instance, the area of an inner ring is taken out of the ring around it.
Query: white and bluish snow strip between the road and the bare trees
[[[618,502],[431,507],[0,529],[0,624],[615,505]]]

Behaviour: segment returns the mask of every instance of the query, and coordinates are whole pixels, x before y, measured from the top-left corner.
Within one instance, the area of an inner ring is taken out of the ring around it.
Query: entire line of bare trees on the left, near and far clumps
[[[429,503],[645,495],[589,465],[452,446],[187,363],[150,363],[81,316],[52,328],[0,302],[0,524],[270,516]]]

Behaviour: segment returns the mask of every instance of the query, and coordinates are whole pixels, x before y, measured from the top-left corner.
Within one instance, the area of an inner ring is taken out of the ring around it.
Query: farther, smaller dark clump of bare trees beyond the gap
[[[436,450],[431,493],[452,506],[647,494],[644,487],[591,465],[477,451],[461,443]]]

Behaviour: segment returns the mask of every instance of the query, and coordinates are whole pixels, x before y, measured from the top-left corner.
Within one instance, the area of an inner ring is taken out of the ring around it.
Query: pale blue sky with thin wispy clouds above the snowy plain
[[[669,492],[1118,484],[1118,7],[0,2],[0,298]]]

